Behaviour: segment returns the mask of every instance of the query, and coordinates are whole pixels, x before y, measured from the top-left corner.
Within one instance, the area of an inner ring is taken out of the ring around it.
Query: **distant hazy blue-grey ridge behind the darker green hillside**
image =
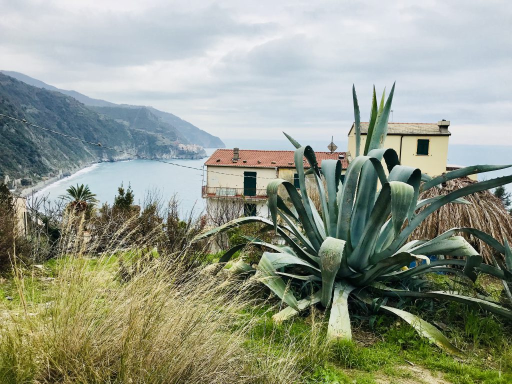
[[[40,80],[37,80],[33,77],[27,76],[23,73],[15,72],[15,71],[0,71],[8,76],[14,77],[17,80],[23,81],[31,86],[38,87],[38,88],[46,88],[51,91],[57,91],[60,93],[63,93],[65,95],[74,97],[78,101],[80,101],[83,104],[86,104],[88,106],[92,107],[113,107],[113,108],[127,108],[127,109],[145,109],[155,116],[158,116],[162,119],[163,122],[172,125],[171,130],[176,130],[178,135],[181,136],[183,143],[191,143],[191,144],[198,144],[203,147],[210,147],[210,148],[223,148],[225,145],[222,142],[220,138],[214,135],[210,135],[209,133],[199,129],[197,126],[189,123],[188,121],[182,120],[176,115],[173,115],[172,113],[159,111],[155,108],[152,108],[151,106],[142,106],[142,105],[130,105],[130,104],[115,104],[110,101],[101,100],[101,99],[94,99],[92,97],[83,95],[76,91],[68,91],[56,88],[54,86],[51,86],[45,82],[42,82]],[[118,114],[119,111],[103,111],[105,115],[110,114]],[[125,120],[126,121],[126,120]],[[142,128],[144,129],[144,128]],[[168,128],[166,129],[168,130]],[[164,129],[165,131],[165,129]],[[152,131],[151,131],[152,132]]]

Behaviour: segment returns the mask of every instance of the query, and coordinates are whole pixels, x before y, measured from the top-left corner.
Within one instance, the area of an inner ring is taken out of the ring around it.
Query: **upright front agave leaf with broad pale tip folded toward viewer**
[[[322,271],[322,305],[326,308],[331,304],[332,287],[336,273],[342,264],[345,243],[345,240],[328,237],[318,251]]]

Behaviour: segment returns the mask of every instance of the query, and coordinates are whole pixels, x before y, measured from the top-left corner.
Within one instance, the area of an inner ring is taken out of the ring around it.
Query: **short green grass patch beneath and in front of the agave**
[[[512,382],[512,349],[508,344],[508,330],[495,317],[464,306],[453,305],[447,309],[453,316],[461,310],[465,311],[466,326],[458,324],[459,328],[451,334],[468,340],[463,359],[444,353],[419,337],[412,327],[391,317],[381,318],[375,329],[375,342],[368,347],[358,342],[366,341],[365,337],[371,332],[369,329],[356,331],[352,341],[333,343],[326,349],[324,314],[316,313],[275,325],[271,321],[275,310],[269,306],[247,310],[247,316],[258,318],[248,345],[251,348],[270,348],[275,356],[279,356],[289,348],[292,340],[303,356],[301,369],[311,383],[342,384],[353,383],[354,380],[357,383],[374,383],[382,377],[389,382],[401,382],[402,379],[417,379],[420,374],[415,370],[418,369],[432,371],[454,384]],[[365,328],[364,324],[354,323],[355,329]]]

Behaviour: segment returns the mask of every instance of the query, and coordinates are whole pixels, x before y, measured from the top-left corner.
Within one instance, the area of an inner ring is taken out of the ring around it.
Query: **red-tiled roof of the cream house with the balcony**
[[[239,160],[233,162],[233,150],[217,150],[205,165],[216,166],[241,166],[241,167],[259,167],[259,168],[295,168],[294,151],[261,151],[261,150],[239,150]],[[342,167],[347,169],[349,163],[345,152],[315,152],[316,160],[322,166],[322,160],[339,159]],[[340,158],[343,156],[343,159]],[[304,166],[309,167],[306,158]]]

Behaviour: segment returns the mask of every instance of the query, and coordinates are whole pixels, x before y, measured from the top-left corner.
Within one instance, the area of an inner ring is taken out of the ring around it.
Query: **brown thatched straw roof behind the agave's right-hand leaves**
[[[466,185],[476,183],[467,177],[450,180],[442,184],[442,188],[431,188],[422,194],[420,199],[446,195]],[[454,227],[473,227],[480,229],[500,243],[503,236],[512,239],[512,216],[510,216],[499,198],[485,190],[464,197],[472,204],[446,204],[430,215],[411,234],[411,239],[432,239]],[[460,233],[473,247],[480,252],[485,263],[493,264],[492,255],[495,250],[483,241],[467,233]]]

